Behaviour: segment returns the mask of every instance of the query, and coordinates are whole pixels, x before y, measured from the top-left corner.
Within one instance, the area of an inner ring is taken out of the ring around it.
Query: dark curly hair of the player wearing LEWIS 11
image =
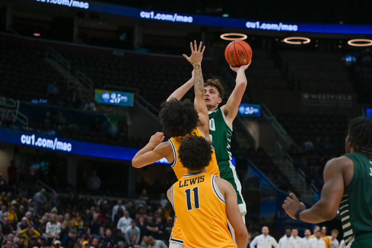
[[[183,167],[192,171],[203,169],[212,159],[211,143],[201,136],[190,135],[183,139],[178,153]]]

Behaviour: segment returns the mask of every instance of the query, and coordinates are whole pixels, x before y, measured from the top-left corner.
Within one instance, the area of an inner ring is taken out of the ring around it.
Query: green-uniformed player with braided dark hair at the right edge
[[[320,200],[305,209],[291,193],[283,208],[294,219],[320,223],[341,214],[347,248],[372,247],[372,119],[355,118],[349,125],[346,154],[327,162]]]

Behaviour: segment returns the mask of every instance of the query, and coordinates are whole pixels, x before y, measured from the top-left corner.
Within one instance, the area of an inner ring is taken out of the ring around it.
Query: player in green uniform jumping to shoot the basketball
[[[238,114],[238,108],[247,86],[247,78],[244,71],[249,65],[250,63],[241,67],[230,66],[230,69],[237,73],[235,80],[236,85],[228,98],[227,103],[221,107],[218,107],[218,105],[224,98],[224,88],[219,80],[208,79],[204,84],[204,100],[209,112],[209,134],[215,147],[219,173],[221,178],[230,182],[234,187],[238,198],[238,206],[244,223],[244,215],[247,213],[247,209],[243,196],[241,195],[241,184],[238,175],[235,171],[235,167],[231,163],[232,155],[230,151],[230,144],[232,135],[232,121],[234,121],[236,115]],[[193,77],[194,73],[192,73],[192,78],[188,82],[175,90],[169,96],[168,100],[180,100],[186,94],[186,92],[192,88]],[[234,229],[230,223],[228,224],[232,238],[235,241]]]

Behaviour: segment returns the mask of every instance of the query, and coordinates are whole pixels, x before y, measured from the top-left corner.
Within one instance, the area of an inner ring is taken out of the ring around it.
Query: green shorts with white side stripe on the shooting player
[[[239,181],[238,174],[235,171],[234,165],[232,165],[231,161],[223,161],[217,164],[219,168],[220,177],[230,182],[232,187],[234,187],[235,189],[236,195],[238,197],[238,207],[241,216],[246,215],[247,207],[246,203],[244,202],[243,195],[241,195],[241,184]]]

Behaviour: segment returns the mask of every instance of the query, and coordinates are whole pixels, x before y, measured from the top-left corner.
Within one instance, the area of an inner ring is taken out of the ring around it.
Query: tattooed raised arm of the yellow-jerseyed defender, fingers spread
[[[208,116],[208,109],[205,105],[204,101],[204,80],[203,80],[203,73],[202,73],[202,60],[203,60],[203,53],[205,50],[205,46],[202,49],[202,42],[199,44],[199,48],[196,45],[196,41],[194,41],[194,45],[190,42],[191,47],[191,56],[187,57],[183,54],[183,57],[189,61],[192,66],[194,67],[194,91],[195,91],[195,100],[194,106],[196,111],[199,114],[199,124],[198,127],[202,129],[204,133],[209,134],[209,116]]]

